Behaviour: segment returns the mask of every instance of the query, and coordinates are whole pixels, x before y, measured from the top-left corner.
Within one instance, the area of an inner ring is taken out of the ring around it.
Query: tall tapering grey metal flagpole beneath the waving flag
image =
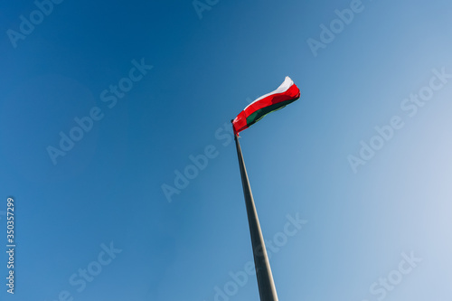
[[[250,225],[251,245],[254,255],[256,277],[258,278],[260,301],[278,301],[277,289],[273,282],[267,249],[265,248],[262,230],[260,230],[258,212],[256,212],[256,206],[254,205],[250,181],[248,180],[247,169],[243,162],[238,135],[234,135],[234,138],[237,155],[239,157],[241,184],[243,186],[243,194],[247,207],[248,223]]]

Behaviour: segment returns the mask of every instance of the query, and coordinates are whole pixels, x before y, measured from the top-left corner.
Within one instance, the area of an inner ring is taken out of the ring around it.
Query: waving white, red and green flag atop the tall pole
[[[286,107],[289,103],[300,98],[300,89],[287,76],[278,89],[254,100],[232,120],[235,135],[258,122],[268,113]]]

